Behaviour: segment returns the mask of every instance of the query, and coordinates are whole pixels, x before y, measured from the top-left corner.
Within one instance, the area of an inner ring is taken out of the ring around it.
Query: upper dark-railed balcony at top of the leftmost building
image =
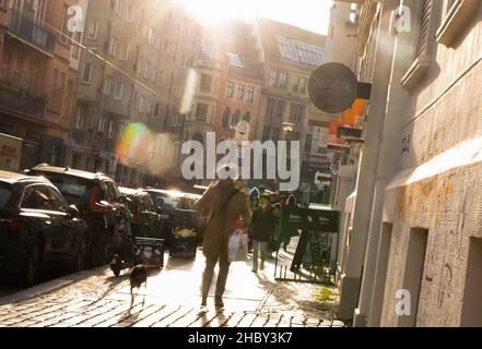
[[[54,53],[56,35],[47,31],[44,25],[36,23],[32,15],[10,9],[7,27],[9,32],[40,50]]]

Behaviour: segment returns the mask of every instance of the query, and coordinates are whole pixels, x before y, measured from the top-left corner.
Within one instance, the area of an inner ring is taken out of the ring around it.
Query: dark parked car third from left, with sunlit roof
[[[154,206],[151,195],[145,190],[119,188],[126,196],[127,205],[132,215],[132,234],[139,238],[163,238],[163,219],[161,212]]]

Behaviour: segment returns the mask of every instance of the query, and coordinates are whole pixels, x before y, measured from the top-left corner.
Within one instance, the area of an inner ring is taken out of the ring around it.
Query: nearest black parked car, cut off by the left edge
[[[48,180],[0,171],[0,270],[20,275],[26,285],[39,269],[81,270],[86,231],[77,207]]]

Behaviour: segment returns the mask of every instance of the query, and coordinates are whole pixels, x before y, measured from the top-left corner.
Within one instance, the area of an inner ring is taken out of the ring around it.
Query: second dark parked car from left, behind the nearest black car
[[[116,183],[103,173],[45,164],[32,168],[28,173],[47,178],[69,204],[79,207],[89,227],[89,264],[108,263],[113,239],[124,236],[130,221],[129,209]]]

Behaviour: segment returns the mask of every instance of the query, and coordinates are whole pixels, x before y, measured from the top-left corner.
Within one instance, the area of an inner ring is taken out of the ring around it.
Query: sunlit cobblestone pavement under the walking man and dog
[[[82,272],[58,289],[0,299],[0,327],[343,326],[333,321],[336,302],[315,300],[319,286],[277,284],[272,265],[263,274],[251,273],[248,263],[233,265],[224,310],[212,306],[212,298],[200,308],[201,272],[202,257],[167,265],[151,274],[133,304],[126,276],[115,278],[108,268]]]

